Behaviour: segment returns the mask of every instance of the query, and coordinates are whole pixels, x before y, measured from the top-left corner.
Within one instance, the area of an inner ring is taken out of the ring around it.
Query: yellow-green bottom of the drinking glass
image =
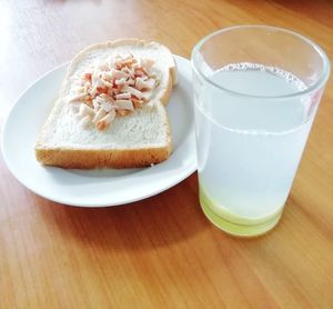
[[[283,208],[260,219],[248,219],[235,216],[230,211],[222,209],[208,197],[200,187],[200,205],[208,219],[221,230],[239,237],[255,237],[263,235],[274,228],[279,222]]]

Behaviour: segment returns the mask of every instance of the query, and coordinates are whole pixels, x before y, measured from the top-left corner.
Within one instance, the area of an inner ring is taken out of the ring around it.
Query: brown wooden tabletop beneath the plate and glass
[[[0,122],[34,79],[87,44],[158,40],[183,57],[221,27],[299,31],[333,58],[331,1],[0,0]],[[333,308],[333,80],[282,221],[258,239],[203,216],[196,175],[113,208],[74,208],[20,185],[0,158],[1,308]]]

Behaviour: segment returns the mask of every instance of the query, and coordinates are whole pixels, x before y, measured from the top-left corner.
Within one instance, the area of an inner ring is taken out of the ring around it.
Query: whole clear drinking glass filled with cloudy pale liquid
[[[330,73],[323,50],[280,28],[216,31],[192,52],[200,203],[222,230],[280,220]]]

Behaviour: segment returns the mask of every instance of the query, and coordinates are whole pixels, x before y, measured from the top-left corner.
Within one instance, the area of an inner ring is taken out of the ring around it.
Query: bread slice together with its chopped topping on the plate
[[[176,83],[170,50],[121,39],[93,44],[70,62],[34,146],[46,166],[139,168],[172,151],[165,106]]]

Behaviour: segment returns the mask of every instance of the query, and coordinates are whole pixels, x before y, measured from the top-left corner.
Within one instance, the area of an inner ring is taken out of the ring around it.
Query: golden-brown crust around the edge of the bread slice
[[[70,77],[73,73],[73,70],[78,62],[87,54],[87,52],[102,49],[117,47],[122,44],[159,44],[155,42],[147,43],[143,40],[139,39],[119,39],[115,41],[109,41],[107,43],[99,43],[89,46],[81,52],[79,52],[71,61],[65,78],[63,80],[60,99],[65,94],[65,87]],[[161,46],[161,44],[159,44]],[[162,46],[165,48],[164,46]],[[165,48],[168,51],[169,49]],[[170,51],[169,51],[170,52]],[[171,54],[171,52],[170,52]],[[161,101],[163,106],[168,104],[173,84],[176,83],[176,69],[175,64],[169,68],[169,79],[165,89],[161,92],[157,100]],[[56,102],[57,104],[57,102]],[[62,147],[52,147],[49,148],[43,146],[39,141],[34,147],[36,158],[39,162],[46,166],[56,166],[62,168],[71,169],[93,169],[93,168],[140,168],[147,167],[150,165],[155,165],[167,160],[172,151],[171,143],[171,133],[170,124],[168,121],[168,114],[165,112],[167,123],[167,143],[161,147],[147,147],[147,148],[132,148],[132,149],[77,149],[77,148],[62,148]],[[48,126],[48,120],[44,124],[44,128]]]

